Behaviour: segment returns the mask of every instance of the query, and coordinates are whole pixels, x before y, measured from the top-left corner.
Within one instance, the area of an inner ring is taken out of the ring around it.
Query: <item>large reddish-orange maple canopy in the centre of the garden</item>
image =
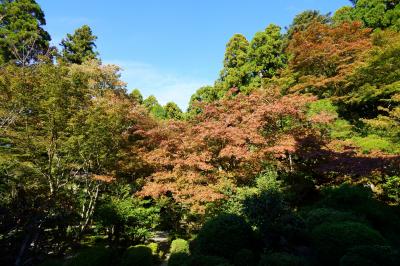
[[[265,164],[289,167],[288,154],[309,128],[304,113],[314,98],[274,91],[220,100],[192,121],[162,121],[142,134],[140,153],[155,170],[141,195],[174,198],[195,208],[220,199],[226,180],[245,183]]]

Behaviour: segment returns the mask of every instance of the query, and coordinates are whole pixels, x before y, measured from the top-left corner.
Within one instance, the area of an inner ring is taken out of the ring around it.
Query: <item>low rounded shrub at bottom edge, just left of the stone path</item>
[[[153,265],[152,251],[148,246],[137,245],[129,247],[122,256],[121,266],[151,266]]]

